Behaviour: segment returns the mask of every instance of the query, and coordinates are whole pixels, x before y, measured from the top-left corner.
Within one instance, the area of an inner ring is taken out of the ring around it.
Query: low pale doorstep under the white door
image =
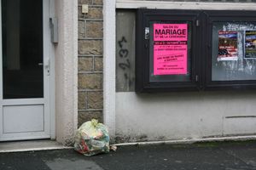
[[[57,143],[55,140],[50,139],[0,142],[0,153],[33,150],[61,150],[71,148],[73,147],[63,146],[62,144]]]

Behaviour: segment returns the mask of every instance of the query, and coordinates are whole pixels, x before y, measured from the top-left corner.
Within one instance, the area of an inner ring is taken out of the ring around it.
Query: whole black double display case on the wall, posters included
[[[247,11],[137,12],[137,92],[256,87],[256,19]]]

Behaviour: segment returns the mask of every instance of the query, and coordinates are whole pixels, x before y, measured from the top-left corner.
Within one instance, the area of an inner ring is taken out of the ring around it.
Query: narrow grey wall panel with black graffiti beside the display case
[[[135,20],[133,11],[116,13],[116,91],[135,91]]]

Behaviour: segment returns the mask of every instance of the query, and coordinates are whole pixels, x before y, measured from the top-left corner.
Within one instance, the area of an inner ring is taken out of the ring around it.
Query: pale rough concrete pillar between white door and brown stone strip
[[[55,0],[59,42],[55,46],[56,140],[73,144],[78,127],[78,3]]]

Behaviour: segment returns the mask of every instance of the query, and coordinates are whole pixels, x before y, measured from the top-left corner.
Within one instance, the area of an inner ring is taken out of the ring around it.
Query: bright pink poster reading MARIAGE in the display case
[[[154,24],[154,75],[187,74],[188,25]]]

